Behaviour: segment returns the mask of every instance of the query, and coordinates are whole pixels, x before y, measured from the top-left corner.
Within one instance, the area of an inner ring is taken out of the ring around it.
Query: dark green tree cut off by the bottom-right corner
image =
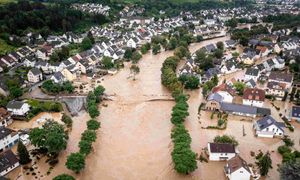
[[[300,179],[300,158],[281,164],[278,171],[281,180]]]

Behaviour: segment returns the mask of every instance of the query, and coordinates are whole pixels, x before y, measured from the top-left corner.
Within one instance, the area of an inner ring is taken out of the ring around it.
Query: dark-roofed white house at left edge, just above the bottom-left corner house
[[[18,141],[18,132],[4,126],[0,126],[0,152],[10,149],[13,145],[17,144]]]

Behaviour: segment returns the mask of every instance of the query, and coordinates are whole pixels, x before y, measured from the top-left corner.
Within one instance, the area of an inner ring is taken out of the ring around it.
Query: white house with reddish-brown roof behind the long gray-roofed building
[[[258,88],[246,88],[243,93],[243,104],[249,106],[263,107],[265,91]]]

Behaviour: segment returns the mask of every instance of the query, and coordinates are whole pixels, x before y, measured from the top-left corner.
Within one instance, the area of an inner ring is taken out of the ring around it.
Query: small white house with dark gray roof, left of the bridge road
[[[30,110],[30,106],[22,101],[10,101],[7,106],[7,110],[12,113],[12,115],[24,116]]]

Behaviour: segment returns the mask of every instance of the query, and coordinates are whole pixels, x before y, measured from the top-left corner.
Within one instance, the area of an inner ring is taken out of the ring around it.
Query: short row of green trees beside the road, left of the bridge
[[[53,82],[52,80],[47,80],[47,81],[43,82],[42,89],[46,93],[50,93],[50,94],[58,94],[61,92],[64,92],[64,93],[73,93],[74,92],[74,87],[73,87],[72,83],[69,81],[66,81],[63,84],[58,84],[58,83]]]

